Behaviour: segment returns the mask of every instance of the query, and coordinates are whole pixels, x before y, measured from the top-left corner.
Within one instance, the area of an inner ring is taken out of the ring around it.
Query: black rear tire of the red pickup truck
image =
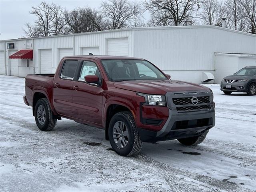
[[[44,115],[38,115],[38,108],[44,108]],[[40,130],[50,131],[55,127],[57,119],[54,119],[54,115],[52,113],[52,110],[47,99],[43,98],[36,102],[34,114],[36,125]],[[44,122],[42,122],[42,120],[39,118],[40,116],[41,118],[44,117]]]

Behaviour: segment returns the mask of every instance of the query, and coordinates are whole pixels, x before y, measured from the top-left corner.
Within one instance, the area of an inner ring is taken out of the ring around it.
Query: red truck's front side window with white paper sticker
[[[99,80],[101,79],[100,71],[99,71],[97,65],[91,61],[83,62],[78,81],[85,82],[84,76],[86,76],[86,75],[97,75],[99,77]]]

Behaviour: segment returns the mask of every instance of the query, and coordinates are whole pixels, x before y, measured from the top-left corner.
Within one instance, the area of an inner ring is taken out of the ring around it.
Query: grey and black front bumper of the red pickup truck
[[[202,124],[198,124],[198,121],[201,120],[206,121]],[[186,128],[182,128],[182,126],[180,126],[182,125],[182,123],[180,122],[186,122]],[[214,108],[207,111],[186,113],[178,113],[175,110],[169,109],[169,118],[160,131],[154,132],[140,128],[138,128],[138,131],[143,142],[157,142],[207,134],[209,129],[212,128],[214,125]]]

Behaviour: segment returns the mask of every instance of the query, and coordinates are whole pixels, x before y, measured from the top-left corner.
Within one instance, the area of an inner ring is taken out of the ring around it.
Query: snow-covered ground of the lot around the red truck
[[[144,143],[118,156],[104,131],[63,119],[38,130],[24,78],[0,76],[0,191],[255,191],[256,96],[214,92],[216,126],[193,147]]]

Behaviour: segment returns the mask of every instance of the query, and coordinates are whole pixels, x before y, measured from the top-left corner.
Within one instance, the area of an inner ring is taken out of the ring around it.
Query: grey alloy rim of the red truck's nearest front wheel
[[[126,147],[129,140],[129,132],[124,122],[118,121],[114,124],[113,138],[118,148]]]

